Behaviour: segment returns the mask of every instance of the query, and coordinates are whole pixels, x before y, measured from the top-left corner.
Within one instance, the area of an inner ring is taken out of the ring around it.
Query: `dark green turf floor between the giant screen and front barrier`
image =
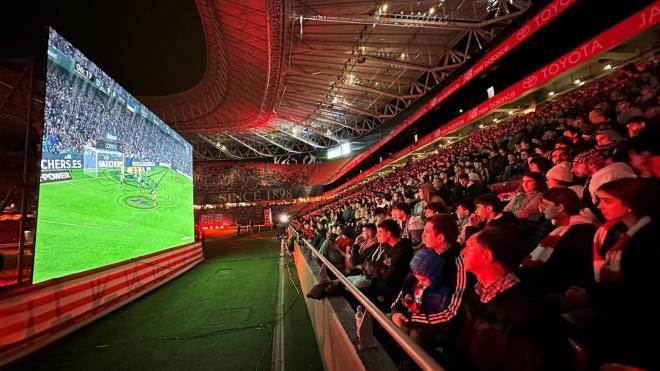
[[[279,242],[242,234],[204,250],[202,264],[9,369],[270,370]],[[295,267],[282,274],[284,369],[323,370]]]

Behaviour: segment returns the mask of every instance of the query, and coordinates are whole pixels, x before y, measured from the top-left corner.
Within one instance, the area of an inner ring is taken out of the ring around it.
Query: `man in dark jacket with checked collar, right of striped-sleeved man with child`
[[[559,332],[559,317],[545,305],[541,290],[521,282],[507,263],[514,236],[506,228],[487,228],[471,236],[461,252],[477,284],[466,293],[459,344],[479,370],[567,369],[568,342]]]

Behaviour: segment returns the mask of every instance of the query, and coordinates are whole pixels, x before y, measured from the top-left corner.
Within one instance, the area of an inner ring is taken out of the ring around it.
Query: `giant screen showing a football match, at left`
[[[192,146],[50,29],[33,282],[194,241]]]

